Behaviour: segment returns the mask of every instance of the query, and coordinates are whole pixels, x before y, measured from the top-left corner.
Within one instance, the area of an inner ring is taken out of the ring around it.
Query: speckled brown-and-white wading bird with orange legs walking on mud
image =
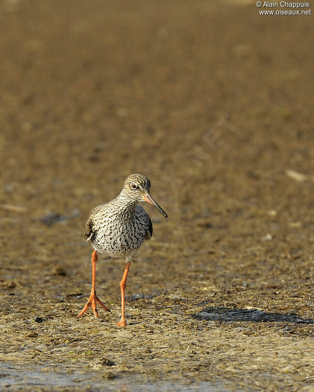
[[[126,277],[131,260],[144,240],[153,235],[153,225],[147,212],[139,205],[141,201],[152,204],[165,218],[167,214],[150,194],[151,182],[141,174],[131,174],[126,178],[120,194],[109,203],[101,204],[91,211],[85,225],[85,240],[94,248],[92,253],[92,289],[91,295],[77,315],[80,317],[92,306],[94,316],[98,318],[96,303],[111,313],[96,294],[95,277],[97,252],[110,257],[125,257],[126,267],[120,282],[121,319],[119,327],[126,327],[125,288]]]

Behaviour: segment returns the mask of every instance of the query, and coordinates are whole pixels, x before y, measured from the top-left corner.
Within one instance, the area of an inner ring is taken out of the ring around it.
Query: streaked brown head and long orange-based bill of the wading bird
[[[156,201],[150,195],[150,185],[151,183],[147,177],[142,176],[141,174],[131,174],[126,178],[122,192],[132,201],[136,201],[138,203],[140,201],[147,201],[167,218],[166,212],[158,206]]]

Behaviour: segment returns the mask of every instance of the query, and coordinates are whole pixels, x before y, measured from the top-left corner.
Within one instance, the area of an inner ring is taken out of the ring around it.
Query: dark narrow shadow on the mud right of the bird
[[[259,309],[227,308],[224,306],[205,307],[201,312],[192,314],[198,320],[221,322],[288,322],[294,324],[314,324],[312,318],[302,318],[295,313],[265,312]]]

